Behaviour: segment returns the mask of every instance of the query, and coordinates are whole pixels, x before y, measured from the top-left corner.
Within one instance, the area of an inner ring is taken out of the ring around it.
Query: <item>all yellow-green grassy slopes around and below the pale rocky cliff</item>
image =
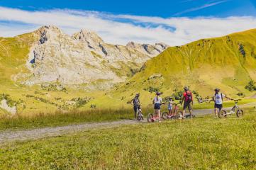
[[[57,111],[57,106],[27,98],[27,95],[45,98],[57,103],[58,106],[65,105],[65,101],[74,97],[95,98],[79,108],[80,110],[89,109],[91,104],[98,108],[129,108],[130,105],[126,102],[137,92],[142,94],[141,101],[146,107],[154,96],[143,90],[149,86],[160,88],[165,96],[171,95],[174,89],[180,90],[185,84],[199,91],[202,96],[211,96],[212,89],[216,86],[233,97],[237,97],[235,94],[238,91],[246,96],[252,96],[244,86],[250,78],[256,79],[255,32],[256,30],[248,30],[223,38],[199,40],[182,47],[169,47],[161,55],[149,60],[145,64],[145,69],[135,74],[127,84],[118,84],[111,91],[94,93],[75,89],[68,89],[68,93],[44,91],[40,86],[22,86],[14,82],[13,77],[18,72],[28,72],[25,64],[35,37],[29,33],[15,38],[0,38],[0,93],[9,94],[15,101],[23,101],[26,108],[18,105],[18,113],[26,115]],[[243,44],[245,48],[245,58],[238,50],[238,43]],[[122,69],[120,72],[130,71]],[[162,74],[163,77],[148,80],[156,73]],[[219,75],[221,78],[218,78]],[[62,101],[57,101],[56,98],[62,98]],[[1,113],[4,111],[0,110]]]

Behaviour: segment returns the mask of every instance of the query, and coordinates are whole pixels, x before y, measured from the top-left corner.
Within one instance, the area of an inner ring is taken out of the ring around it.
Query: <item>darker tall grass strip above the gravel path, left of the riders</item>
[[[152,109],[151,109],[152,110]],[[146,113],[150,108],[143,109]],[[91,109],[89,111],[69,111],[67,113],[40,113],[36,115],[15,115],[13,117],[2,116],[0,118],[0,130],[56,127],[89,122],[103,122],[122,119],[133,119],[133,108],[113,109]]]

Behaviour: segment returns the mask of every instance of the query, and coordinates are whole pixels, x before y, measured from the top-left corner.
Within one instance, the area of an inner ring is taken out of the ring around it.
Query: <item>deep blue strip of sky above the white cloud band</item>
[[[72,8],[135,16],[255,16],[255,0],[1,0],[0,6],[24,10]],[[207,6],[208,5],[208,6]],[[194,10],[192,10],[194,9]],[[191,10],[191,11],[190,11]]]

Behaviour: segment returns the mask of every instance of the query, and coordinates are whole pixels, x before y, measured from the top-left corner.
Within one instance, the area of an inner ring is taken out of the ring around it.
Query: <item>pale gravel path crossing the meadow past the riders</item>
[[[248,103],[243,105],[242,107],[255,106],[255,104],[256,103]],[[213,109],[194,110],[194,115],[198,115],[198,116],[208,115],[211,113],[213,113]],[[42,139],[44,137],[55,137],[55,136],[70,134],[73,132],[80,132],[84,130],[113,128],[120,125],[132,125],[132,124],[138,124],[138,123],[146,123],[146,120],[143,120],[141,122],[138,122],[136,120],[118,120],[114,122],[84,123],[81,125],[67,125],[67,126],[60,126],[55,128],[38,128],[33,130],[18,130],[18,131],[6,130],[3,132],[0,132],[0,145],[3,145],[4,143],[7,143],[7,142],[36,140],[36,139]]]

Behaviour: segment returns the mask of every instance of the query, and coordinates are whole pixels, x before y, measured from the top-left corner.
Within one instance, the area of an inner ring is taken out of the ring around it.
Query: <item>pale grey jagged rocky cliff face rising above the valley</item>
[[[31,48],[27,63],[32,72],[25,82],[29,85],[52,81],[67,85],[121,82],[130,70],[140,68],[167,48],[163,43],[110,45],[88,30],[69,36],[55,26],[43,26],[34,34],[38,42]]]

